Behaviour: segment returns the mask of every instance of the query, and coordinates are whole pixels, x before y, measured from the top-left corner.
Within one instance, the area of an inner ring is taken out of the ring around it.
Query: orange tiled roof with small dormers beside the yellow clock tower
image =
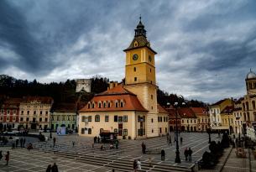
[[[115,107],[116,101],[123,101],[123,107]],[[88,103],[95,102],[94,108],[88,108]],[[99,108],[97,106],[98,102],[111,102],[110,107]],[[79,112],[112,112],[112,111],[139,111],[148,112],[142,104],[138,101],[138,98],[132,92],[123,88],[123,86],[116,86],[110,90],[104,91],[96,96],[93,96],[90,102],[88,102],[85,107],[81,108]]]

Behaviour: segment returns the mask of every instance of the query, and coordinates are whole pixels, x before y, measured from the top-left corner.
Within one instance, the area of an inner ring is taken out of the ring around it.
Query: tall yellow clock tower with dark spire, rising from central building
[[[157,53],[150,47],[144,24],[139,23],[134,29],[132,43],[126,50],[125,84],[128,91],[137,95],[139,102],[149,112],[146,116],[147,136],[158,136],[157,86],[155,81],[154,55]]]

